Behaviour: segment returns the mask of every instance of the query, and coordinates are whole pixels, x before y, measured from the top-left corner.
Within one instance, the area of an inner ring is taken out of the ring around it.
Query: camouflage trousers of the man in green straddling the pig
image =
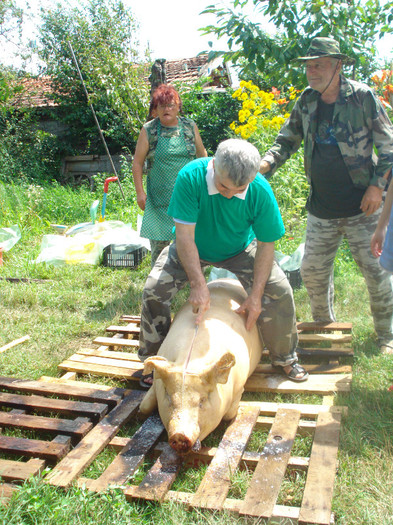
[[[254,275],[256,242],[243,252],[214,266],[234,273],[247,293]],[[201,261],[204,269],[212,263]],[[188,283],[178,258],[176,242],[165,248],[150,272],[143,290],[139,357],[144,361],[156,355],[171,324],[171,303],[176,293]],[[263,342],[275,365],[297,361],[298,342],[295,304],[291,286],[276,262],[262,297],[262,313],[257,320]]]

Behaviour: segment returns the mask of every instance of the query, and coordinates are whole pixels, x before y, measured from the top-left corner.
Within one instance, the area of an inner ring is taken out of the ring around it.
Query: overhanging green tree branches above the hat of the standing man
[[[228,37],[229,52],[220,53],[243,67],[245,75],[264,73],[271,85],[302,87],[302,77],[291,60],[302,56],[315,36],[333,36],[343,53],[356,58],[357,77],[366,80],[375,69],[375,42],[393,32],[393,2],[379,0],[251,0],[256,11],[273,22],[277,34],[268,35],[262,23],[251,22],[236,11],[249,0],[233,0],[232,8],[211,5],[217,24],[205,34]],[[214,54],[214,53],[211,53]]]

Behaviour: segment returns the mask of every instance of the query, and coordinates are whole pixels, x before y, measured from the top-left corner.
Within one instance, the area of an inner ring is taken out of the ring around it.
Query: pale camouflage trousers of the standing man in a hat
[[[335,321],[333,265],[338,247],[346,237],[352,256],[366,280],[378,338],[391,340],[393,281],[370,249],[380,212],[369,217],[361,213],[343,219],[318,219],[309,214],[301,275],[310,297],[314,320]]]

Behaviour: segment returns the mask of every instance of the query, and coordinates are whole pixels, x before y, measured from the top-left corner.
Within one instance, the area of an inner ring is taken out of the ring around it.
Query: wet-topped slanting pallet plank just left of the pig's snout
[[[106,490],[111,485],[125,483],[142,464],[145,455],[154,446],[163,430],[164,425],[161,423],[160,416],[158,414],[150,416],[105,472],[90,484],[89,489],[100,491]]]

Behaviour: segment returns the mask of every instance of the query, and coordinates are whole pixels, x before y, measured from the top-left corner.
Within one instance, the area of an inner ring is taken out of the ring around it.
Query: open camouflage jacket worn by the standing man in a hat
[[[296,101],[290,117],[263,158],[272,165],[268,176],[282,166],[304,141],[304,169],[311,180],[319,98],[320,94],[308,87]],[[393,165],[393,125],[373,91],[365,84],[341,76],[333,125],[353,184],[358,188],[384,187],[382,177]]]

